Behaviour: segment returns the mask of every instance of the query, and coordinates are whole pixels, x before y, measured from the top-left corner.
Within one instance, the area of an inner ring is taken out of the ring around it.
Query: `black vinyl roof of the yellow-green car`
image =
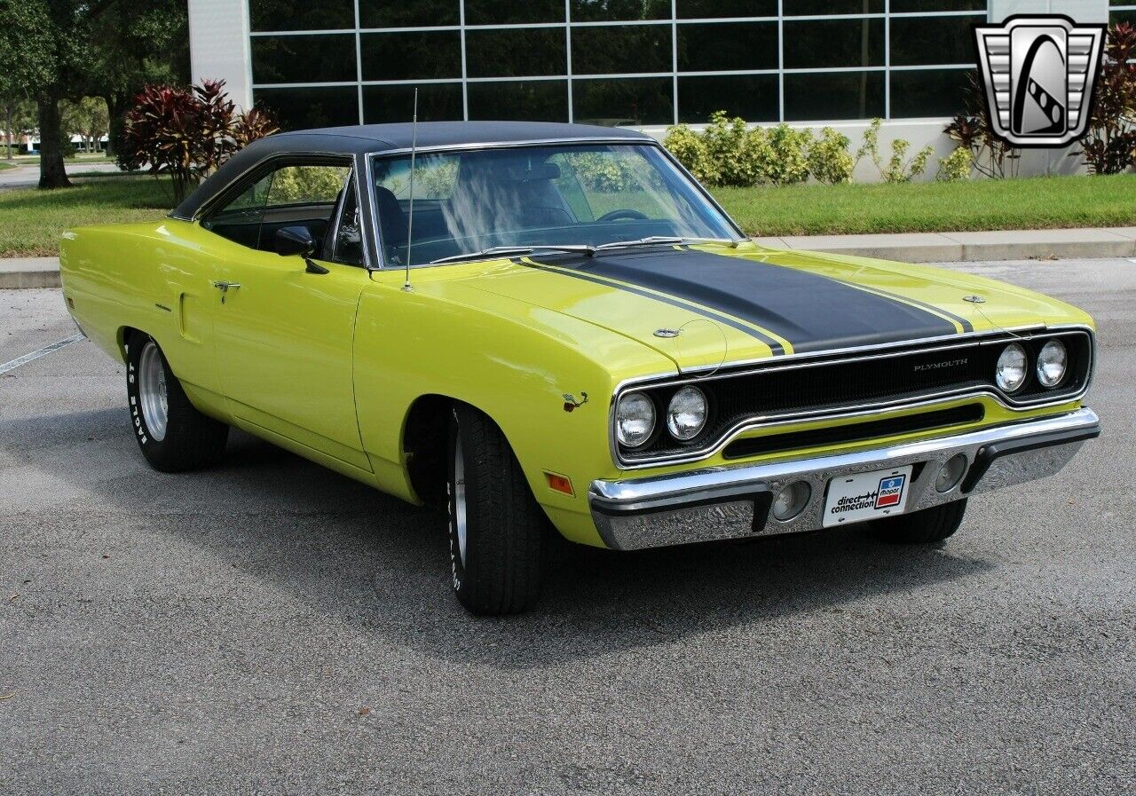
[[[170,213],[190,219],[233,179],[266,157],[274,154],[366,154],[410,149],[414,125],[356,125],[324,127],[278,133],[249,144],[206,179]],[[587,141],[588,139],[627,139],[654,141],[645,133],[621,127],[598,127],[551,122],[421,122],[418,124],[418,149],[477,146],[533,141]]]

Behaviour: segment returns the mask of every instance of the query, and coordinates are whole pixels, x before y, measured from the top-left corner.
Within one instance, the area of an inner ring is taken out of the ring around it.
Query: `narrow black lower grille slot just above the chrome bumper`
[[[849,422],[832,428],[813,428],[807,431],[787,431],[770,434],[765,437],[737,439],[726,445],[722,455],[726,459],[742,459],[761,453],[778,453],[821,445],[838,445],[842,443],[862,442],[879,437],[893,437],[900,434],[929,431],[936,428],[950,428],[968,422],[978,422],[986,411],[980,403],[968,403],[963,407],[941,409],[934,412],[907,414],[886,420],[869,420],[868,422]]]

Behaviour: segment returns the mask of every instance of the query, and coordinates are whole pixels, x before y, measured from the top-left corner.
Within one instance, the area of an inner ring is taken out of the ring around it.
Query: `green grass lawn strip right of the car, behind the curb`
[[[1136,175],[715,188],[750,235],[1136,226]]]

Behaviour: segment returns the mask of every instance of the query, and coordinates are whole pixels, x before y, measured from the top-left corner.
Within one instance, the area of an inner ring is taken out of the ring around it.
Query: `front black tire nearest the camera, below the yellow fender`
[[[454,594],[475,614],[527,610],[540,596],[541,546],[548,520],[504,434],[482,412],[456,405],[446,462]],[[463,552],[459,534],[462,503]]]

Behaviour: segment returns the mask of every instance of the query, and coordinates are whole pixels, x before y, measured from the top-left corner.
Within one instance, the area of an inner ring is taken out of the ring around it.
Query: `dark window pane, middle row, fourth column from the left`
[[[576,75],[670,72],[670,25],[574,27],[571,68]]]

